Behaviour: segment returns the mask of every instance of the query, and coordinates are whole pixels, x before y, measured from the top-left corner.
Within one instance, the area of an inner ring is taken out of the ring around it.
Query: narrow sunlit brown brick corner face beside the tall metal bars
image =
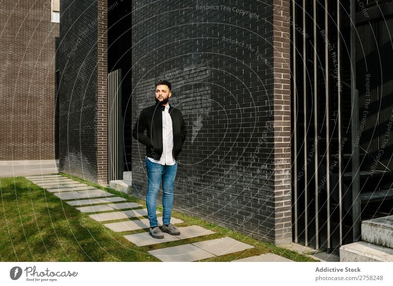
[[[289,0],[274,0],[274,150],[276,244],[292,242]]]

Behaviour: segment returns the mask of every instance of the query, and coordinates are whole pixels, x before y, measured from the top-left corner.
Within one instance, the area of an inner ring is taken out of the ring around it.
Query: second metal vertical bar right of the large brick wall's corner
[[[305,193],[305,245],[309,245],[309,201],[307,177],[307,55],[306,55],[306,0],[303,0],[303,130],[304,130],[304,193]]]

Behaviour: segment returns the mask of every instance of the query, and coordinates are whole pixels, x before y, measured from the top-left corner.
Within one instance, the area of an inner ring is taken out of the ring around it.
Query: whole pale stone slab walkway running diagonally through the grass
[[[163,239],[152,238],[148,231],[132,233],[133,230],[148,230],[149,228],[148,219],[143,218],[147,216],[147,209],[141,208],[140,204],[126,202],[124,198],[116,197],[109,192],[81,184],[62,175],[38,175],[27,176],[26,178],[51,192],[54,196],[64,200],[69,205],[75,206],[79,211],[92,213],[89,217],[103,223],[105,227],[116,232],[130,231],[131,234],[126,234],[124,237],[137,246],[161,244],[163,248],[148,251],[149,254],[161,261],[197,261],[253,248],[252,245],[230,237],[209,239],[209,235],[215,232],[200,226],[179,227],[180,235],[172,236],[165,233]],[[157,214],[159,215],[160,212],[157,211]],[[137,219],[124,221],[124,219],[131,218]],[[159,216],[158,221],[161,225],[162,217]],[[183,223],[183,221],[172,217],[171,223],[175,225]],[[167,242],[199,236],[206,236],[206,240],[166,247]],[[268,253],[233,261],[282,262],[292,260]]]

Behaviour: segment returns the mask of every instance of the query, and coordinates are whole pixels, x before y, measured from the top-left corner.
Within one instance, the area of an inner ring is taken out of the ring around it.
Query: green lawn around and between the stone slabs
[[[129,202],[145,202],[78,177],[62,174],[76,181],[125,198]],[[161,207],[158,210],[162,211]],[[273,244],[261,242],[239,232],[218,227],[201,219],[173,211],[172,216],[184,223],[179,227],[198,225],[214,234],[190,239],[138,247],[125,239],[127,232],[114,232],[88,217],[75,207],[24,177],[0,178],[0,260],[1,261],[159,261],[149,250],[182,245],[225,236],[253,245],[254,248],[204,259],[230,261],[268,252],[295,261],[316,261]],[[140,229],[132,233],[145,232]]]

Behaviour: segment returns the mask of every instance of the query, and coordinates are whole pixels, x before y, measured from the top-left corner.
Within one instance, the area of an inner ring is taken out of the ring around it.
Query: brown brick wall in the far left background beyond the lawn
[[[51,1],[2,1],[0,27],[0,160],[55,159]]]

